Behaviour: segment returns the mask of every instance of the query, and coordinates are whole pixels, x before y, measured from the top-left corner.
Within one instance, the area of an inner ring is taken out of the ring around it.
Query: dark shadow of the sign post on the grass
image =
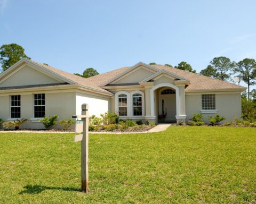
[[[37,194],[41,193],[44,190],[62,190],[62,191],[81,191],[77,188],[72,187],[49,187],[49,186],[43,186],[43,185],[26,185],[24,186],[26,190],[23,190],[19,192],[19,194],[29,193],[29,194]]]

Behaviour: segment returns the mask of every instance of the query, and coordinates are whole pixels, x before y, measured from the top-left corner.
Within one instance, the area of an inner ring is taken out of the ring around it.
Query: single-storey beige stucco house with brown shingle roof
[[[120,118],[186,122],[194,113],[241,117],[246,88],[164,65],[142,62],[84,79],[51,66],[22,59],[0,75],[0,118],[27,118],[23,128],[41,129],[39,118],[59,120],[81,114],[118,112]]]

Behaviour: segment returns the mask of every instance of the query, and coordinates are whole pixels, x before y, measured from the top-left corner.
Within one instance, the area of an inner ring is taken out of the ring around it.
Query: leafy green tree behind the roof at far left
[[[17,44],[2,45],[0,47],[0,63],[3,71],[9,69],[22,58],[30,59],[24,52],[25,49]]]

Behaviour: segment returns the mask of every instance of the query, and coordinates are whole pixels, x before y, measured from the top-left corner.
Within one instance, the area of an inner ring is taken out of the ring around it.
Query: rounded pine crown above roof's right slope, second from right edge
[[[213,75],[213,78],[216,78],[222,81],[227,81],[228,79],[230,79],[230,72],[236,66],[236,63],[231,62],[228,57],[214,57],[213,60],[210,62],[210,64],[215,70],[215,74]]]

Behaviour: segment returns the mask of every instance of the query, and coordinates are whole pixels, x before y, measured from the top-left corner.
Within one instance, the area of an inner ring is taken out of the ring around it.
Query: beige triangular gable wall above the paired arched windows
[[[117,81],[114,81],[113,83],[138,83],[151,75],[153,75],[155,72],[149,71],[149,69],[145,69],[145,67],[140,66],[135,71],[131,71],[131,73],[127,73],[125,77],[118,79]]]

